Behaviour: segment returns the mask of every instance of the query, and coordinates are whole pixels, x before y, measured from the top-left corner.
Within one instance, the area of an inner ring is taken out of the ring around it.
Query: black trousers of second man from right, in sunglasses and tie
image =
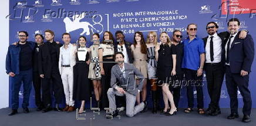
[[[208,94],[211,98],[211,102],[209,104],[209,108],[220,108],[220,93],[221,86],[224,79],[224,71],[221,63],[206,63],[206,80],[207,80],[207,89]]]

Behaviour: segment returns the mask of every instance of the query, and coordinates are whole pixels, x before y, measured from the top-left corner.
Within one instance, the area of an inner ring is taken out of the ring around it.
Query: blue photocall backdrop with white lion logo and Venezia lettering
[[[149,31],[156,31],[158,35],[165,31],[172,36],[173,30],[179,29],[186,38],[186,27],[189,23],[196,23],[198,25],[197,36],[204,38],[207,36],[207,22],[218,23],[218,32],[224,32],[227,30],[227,21],[230,18],[240,19],[241,29],[247,29],[256,40],[254,0],[11,0],[9,2],[9,15],[6,16],[10,19],[9,44],[18,42],[20,30],[28,31],[29,40],[34,41],[34,35],[36,33],[43,35],[46,29],[53,30],[55,40],[61,43],[63,43],[61,35],[65,32],[70,33],[72,43],[75,43],[80,35],[86,36],[87,46],[92,45],[90,34],[97,32],[102,40],[103,32],[106,30],[112,32],[113,35],[116,30],[122,30],[126,41],[129,42],[133,42],[133,35],[136,31],[143,32],[146,38]],[[254,64],[249,84],[252,107],[256,107]],[[203,81],[204,107],[208,107],[210,98],[205,74]],[[149,88],[147,101],[151,102]],[[196,91],[194,91],[194,96],[196,97]],[[239,107],[242,107],[240,91],[237,96]],[[20,104],[22,98],[23,89],[19,93]],[[9,105],[11,105],[11,80],[9,81]],[[89,103],[86,106],[89,107]],[[36,107],[33,87],[29,107]],[[184,87],[181,89],[179,107],[187,107],[186,88]],[[225,80],[221,89],[220,107],[230,107]]]

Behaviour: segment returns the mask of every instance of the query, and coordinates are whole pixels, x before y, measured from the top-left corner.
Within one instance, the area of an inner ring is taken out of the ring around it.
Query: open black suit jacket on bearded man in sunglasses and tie
[[[228,32],[221,32],[217,34],[218,37],[221,39],[221,66],[223,66],[223,72],[224,72],[224,66],[225,66],[225,39],[227,39],[229,36]],[[204,40],[204,49],[206,49],[206,43],[207,43],[208,36],[206,38],[203,38]]]

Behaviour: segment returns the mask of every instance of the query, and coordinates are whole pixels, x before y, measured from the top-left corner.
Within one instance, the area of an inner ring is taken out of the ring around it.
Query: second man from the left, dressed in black
[[[43,103],[41,99],[41,86],[42,80],[38,72],[38,55],[39,46],[43,45],[43,36],[41,34],[35,35],[36,46],[33,50],[33,86],[35,88],[35,102],[38,107],[36,111],[41,111],[43,109]]]

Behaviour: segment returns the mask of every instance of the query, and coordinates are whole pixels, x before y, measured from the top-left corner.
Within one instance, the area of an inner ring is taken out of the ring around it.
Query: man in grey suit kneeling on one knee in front
[[[147,102],[144,101],[134,107],[136,96],[140,90],[142,90],[144,76],[133,64],[123,63],[124,55],[122,52],[117,52],[114,55],[116,65],[111,70],[111,86],[107,91],[107,97],[109,98],[109,107],[112,108],[112,118],[118,115],[116,110],[116,99],[115,96],[126,96],[126,115],[133,117],[137,113],[143,110],[147,106]],[[136,84],[136,79],[139,80],[139,84]],[[117,86],[119,83],[119,86]]]

